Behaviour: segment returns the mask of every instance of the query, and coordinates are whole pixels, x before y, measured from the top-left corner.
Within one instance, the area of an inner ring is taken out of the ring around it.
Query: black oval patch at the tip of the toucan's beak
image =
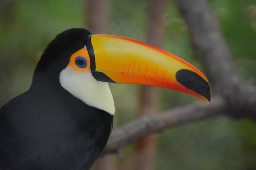
[[[190,90],[205,97],[210,102],[211,100],[210,85],[200,75],[187,69],[181,69],[177,71],[175,76],[176,76],[177,82],[182,84],[184,87],[189,88]]]

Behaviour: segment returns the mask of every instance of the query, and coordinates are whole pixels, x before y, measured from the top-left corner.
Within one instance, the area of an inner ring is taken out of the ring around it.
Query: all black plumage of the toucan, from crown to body
[[[113,116],[77,99],[58,82],[90,32],[70,29],[47,46],[28,91],[0,108],[0,170],[89,170]]]

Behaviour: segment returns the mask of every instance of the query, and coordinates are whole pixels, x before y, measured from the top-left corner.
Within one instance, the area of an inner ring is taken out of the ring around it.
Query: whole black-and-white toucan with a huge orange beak
[[[25,93],[0,108],[0,170],[89,170],[113,126],[108,83],[169,88],[210,101],[207,78],[149,44],[83,28],[48,44]]]

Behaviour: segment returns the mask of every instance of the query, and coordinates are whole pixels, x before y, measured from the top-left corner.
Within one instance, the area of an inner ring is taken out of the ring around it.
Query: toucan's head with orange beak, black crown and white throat
[[[45,73],[86,104],[115,113],[107,83],[141,84],[210,101],[207,78],[194,66],[155,46],[114,35],[69,29],[47,46],[34,75]],[[35,76],[34,76],[35,78]]]

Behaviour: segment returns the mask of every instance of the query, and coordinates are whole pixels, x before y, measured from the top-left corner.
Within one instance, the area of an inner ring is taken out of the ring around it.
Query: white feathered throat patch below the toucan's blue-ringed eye
[[[108,83],[100,82],[90,71],[77,71],[67,66],[60,73],[61,86],[89,106],[115,114],[114,99]]]

